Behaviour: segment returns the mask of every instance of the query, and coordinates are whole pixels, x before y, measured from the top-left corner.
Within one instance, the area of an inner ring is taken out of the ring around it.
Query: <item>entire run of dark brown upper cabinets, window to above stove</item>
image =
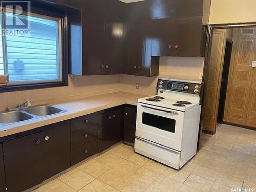
[[[204,55],[203,0],[63,4],[79,9],[69,14],[74,75],[158,76],[160,56]]]

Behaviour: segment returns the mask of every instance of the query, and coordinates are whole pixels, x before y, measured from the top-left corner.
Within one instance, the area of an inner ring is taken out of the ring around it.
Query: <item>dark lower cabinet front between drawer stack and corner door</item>
[[[123,110],[121,108],[100,114],[99,152],[109,148],[121,139]]]

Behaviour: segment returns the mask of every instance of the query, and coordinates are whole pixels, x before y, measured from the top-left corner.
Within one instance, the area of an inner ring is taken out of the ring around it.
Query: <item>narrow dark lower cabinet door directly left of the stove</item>
[[[134,143],[135,130],[136,130],[136,106],[124,107],[124,119],[123,119],[123,141],[128,143]]]

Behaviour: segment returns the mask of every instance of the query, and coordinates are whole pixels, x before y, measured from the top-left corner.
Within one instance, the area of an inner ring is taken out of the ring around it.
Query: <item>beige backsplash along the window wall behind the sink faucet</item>
[[[74,76],[69,86],[0,93],[0,111],[30,100],[32,105],[77,99],[120,90],[119,75]]]

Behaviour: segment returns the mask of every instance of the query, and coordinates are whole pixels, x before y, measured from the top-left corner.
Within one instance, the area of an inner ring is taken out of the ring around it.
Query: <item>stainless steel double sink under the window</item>
[[[26,110],[0,113],[0,126],[6,126],[20,121],[64,113],[66,111],[67,110],[57,108],[56,106],[52,105],[41,105],[32,106]]]

